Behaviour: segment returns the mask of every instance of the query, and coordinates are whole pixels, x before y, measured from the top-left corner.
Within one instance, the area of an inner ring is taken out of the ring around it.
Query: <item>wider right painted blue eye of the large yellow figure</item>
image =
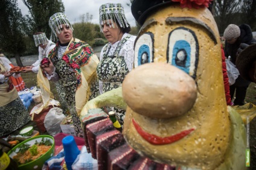
[[[196,78],[199,46],[196,34],[188,28],[171,31],[168,38],[167,63]]]

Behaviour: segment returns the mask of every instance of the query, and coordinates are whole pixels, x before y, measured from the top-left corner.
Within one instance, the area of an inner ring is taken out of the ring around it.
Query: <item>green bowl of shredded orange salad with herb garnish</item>
[[[18,163],[18,169],[42,169],[43,163],[54,156],[54,138],[39,135],[24,140],[8,152]]]

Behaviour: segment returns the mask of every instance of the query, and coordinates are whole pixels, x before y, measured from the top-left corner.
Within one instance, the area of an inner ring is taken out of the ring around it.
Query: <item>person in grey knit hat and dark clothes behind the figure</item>
[[[252,37],[251,27],[247,24],[242,24],[239,27],[234,24],[228,25],[225,29],[223,37],[225,38],[225,56],[231,57],[232,63],[235,65],[237,49],[241,43],[251,45],[256,42]],[[234,105],[245,104],[246,90],[251,82],[243,79],[240,75],[235,80],[235,83],[229,86],[231,99],[235,93]]]

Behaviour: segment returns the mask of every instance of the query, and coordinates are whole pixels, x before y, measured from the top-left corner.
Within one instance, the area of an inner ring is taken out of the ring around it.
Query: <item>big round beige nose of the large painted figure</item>
[[[193,78],[166,63],[149,63],[133,69],[122,86],[127,105],[136,113],[151,118],[184,115],[197,98]]]

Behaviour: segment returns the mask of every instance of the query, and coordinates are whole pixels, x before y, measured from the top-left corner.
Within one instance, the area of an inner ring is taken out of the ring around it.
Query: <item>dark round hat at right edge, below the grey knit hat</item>
[[[245,48],[240,54],[237,56],[237,60],[235,61],[235,66],[245,80],[253,81],[249,77],[249,69],[252,68],[252,64],[256,60],[256,43]]]

